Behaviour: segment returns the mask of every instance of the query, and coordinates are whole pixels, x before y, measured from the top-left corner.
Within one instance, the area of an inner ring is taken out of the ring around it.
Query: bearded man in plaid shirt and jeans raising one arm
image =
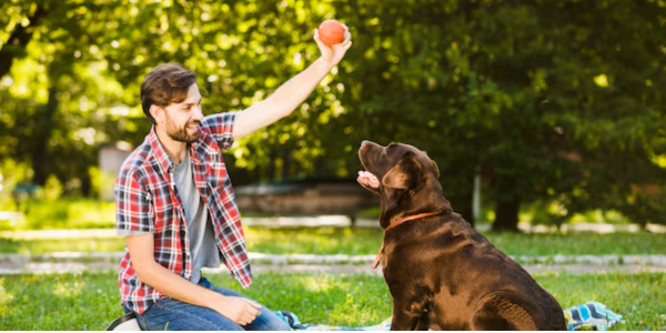
[[[251,283],[240,215],[221,149],[297,108],[351,47],[351,34],[266,100],[203,117],[194,73],[168,63],[141,84],[151,132],[115,183],[117,229],[127,236],[119,285],[125,312],[143,330],[290,330],[261,304],[215,287],[201,268],[220,259],[243,287]]]

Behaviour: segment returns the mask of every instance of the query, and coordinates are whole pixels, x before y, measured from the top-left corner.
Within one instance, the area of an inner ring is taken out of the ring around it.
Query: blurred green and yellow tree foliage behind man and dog
[[[236,189],[353,182],[367,139],[427,151],[454,210],[493,230],[666,224],[666,1],[9,0],[0,12],[2,230],[112,228],[115,172],[151,128],[139,103],[151,68],[196,72],[204,114],[242,110],[319,57],[325,19],[350,27],[352,49],[291,117],[225,152]]]

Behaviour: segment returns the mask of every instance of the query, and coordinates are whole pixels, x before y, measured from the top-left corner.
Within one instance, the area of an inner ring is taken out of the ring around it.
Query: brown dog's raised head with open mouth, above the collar
[[[365,188],[380,194],[382,226],[410,214],[452,211],[442,193],[437,163],[424,151],[404,143],[382,147],[363,141],[359,158],[380,182],[379,188]]]

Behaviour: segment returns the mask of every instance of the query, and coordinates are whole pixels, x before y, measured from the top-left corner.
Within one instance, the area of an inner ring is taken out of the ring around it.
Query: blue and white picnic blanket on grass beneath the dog
[[[372,326],[349,327],[321,324],[302,324],[299,317],[289,311],[275,311],[275,314],[287,322],[296,331],[389,331],[391,317]],[[606,331],[610,326],[622,323],[622,315],[614,313],[598,302],[587,302],[564,311],[564,317],[569,331]]]

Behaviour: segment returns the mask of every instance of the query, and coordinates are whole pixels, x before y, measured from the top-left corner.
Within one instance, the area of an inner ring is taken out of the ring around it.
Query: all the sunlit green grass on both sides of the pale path
[[[374,254],[380,229],[245,229],[248,246],[261,253]],[[512,255],[666,254],[666,234],[591,232],[563,234],[486,233]],[[59,251],[122,251],[120,236],[34,238],[3,233],[0,252],[40,254]],[[241,291],[225,274],[209,276]],[[587,301],[625,316],[619,330],[666,330],[666,274],[541,274],[535,279],[569,307]],[[270,292],[266,292],[270,291]],[[273,310],[287,310],[303,323],[364,326],[391,315],[391,297],[381,276],[369,274],[258,273],[246,291]],[[0,330],[103,330],[122,314],[117,273],[0,275]]]

